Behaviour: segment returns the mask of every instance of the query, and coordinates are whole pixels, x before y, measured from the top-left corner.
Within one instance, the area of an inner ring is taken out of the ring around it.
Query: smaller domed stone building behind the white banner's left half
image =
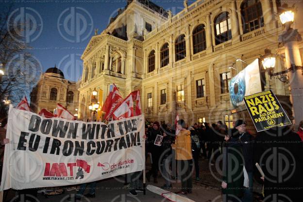
[[[43,73],[31,92],[31,109],[39,113],[41,109],[47,109],[51,113],[61,104],[72,114],[76,114],[78,108],[79,83],[64,78],[63,72],[51,67]]]

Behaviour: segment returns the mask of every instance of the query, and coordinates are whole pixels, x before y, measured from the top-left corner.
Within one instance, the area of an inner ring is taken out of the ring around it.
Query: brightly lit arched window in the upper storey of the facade
[[[231,19],[228,12],[223,12],[215,18],[216,45],[232,39]]]

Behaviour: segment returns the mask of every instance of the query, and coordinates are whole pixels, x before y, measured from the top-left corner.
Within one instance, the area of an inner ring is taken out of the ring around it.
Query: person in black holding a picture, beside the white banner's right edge
[[[152,170],[146,173],[146,179],[148,182],[151,181],[151,175],[153,177],[153,182],[158,183],[157,175],[159,170],[159,158],[161,155],[161,145],[158,146],[154,144],[157,135],[163,136],[164,133],[160,129],[159,122],[155,121],[152,124],[152,129],[148,131],[147,138],[149,141],[149,152],[152,154]]]

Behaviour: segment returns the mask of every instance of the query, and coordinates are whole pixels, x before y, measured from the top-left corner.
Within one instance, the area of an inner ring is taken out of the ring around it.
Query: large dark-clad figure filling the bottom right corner
[[[255,161],[264,172],[264,201],[302,202],[303,143],[286,126],[261,131],[255,138]]]

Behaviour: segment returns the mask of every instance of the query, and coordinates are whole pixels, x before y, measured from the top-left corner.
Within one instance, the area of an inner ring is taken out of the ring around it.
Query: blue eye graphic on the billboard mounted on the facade
[[[245,95],[245,74],[238,74],[232,78],[229,83],[230,99],[233,106],[236,108],[243,101]]]

